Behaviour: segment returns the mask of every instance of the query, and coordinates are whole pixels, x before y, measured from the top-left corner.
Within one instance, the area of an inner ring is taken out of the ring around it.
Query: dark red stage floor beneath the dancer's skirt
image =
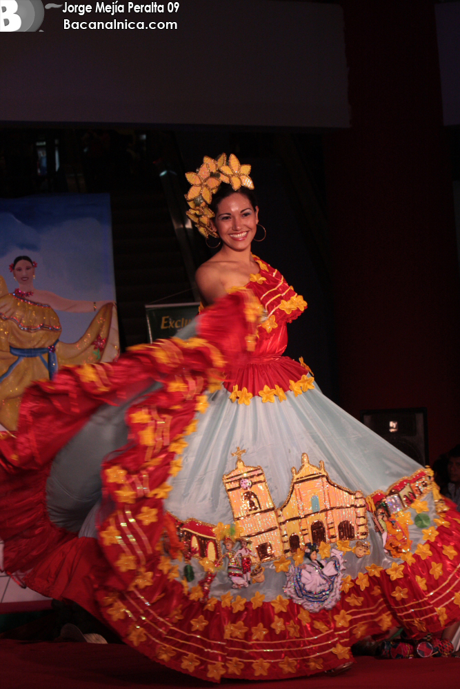
[[[270,682],[224,680],[226,689],[448,689],[460,683],[460,659],[358,658],[343,675]],[[1,689],[208,688],[201,679],[171,672],[128,646],[0,641]]]

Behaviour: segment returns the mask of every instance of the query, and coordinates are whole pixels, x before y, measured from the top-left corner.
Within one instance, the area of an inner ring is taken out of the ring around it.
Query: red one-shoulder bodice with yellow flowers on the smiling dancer
[[[244,388],[251,395],[259,395],[268,386],[274,390],[292,389],[308,367],[287,356],[282,356],[288,345],[286,325],[305,311],[307,302],[294,291],[277,269],[272,268],[254,256],[259,263],[260,273],[251,275],[244,289],[251,289],[265,309],[265,320],[257,329],[257,343],[250,362],[243,367],[228,369],[226,389],[232,392]],[[234,400],[233,400],[234,401]]]

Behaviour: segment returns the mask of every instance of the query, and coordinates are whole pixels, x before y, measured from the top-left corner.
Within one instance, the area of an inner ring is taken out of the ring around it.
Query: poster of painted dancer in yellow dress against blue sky
[[[59,367],[119,354],[110,198],[0,199],[0,430]]]

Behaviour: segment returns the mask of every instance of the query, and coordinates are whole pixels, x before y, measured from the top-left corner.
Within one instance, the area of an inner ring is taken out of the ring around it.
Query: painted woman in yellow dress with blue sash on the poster
[[[17,428],[21,395],[33,380],[52,378],[64,364],[110,361],[119,351],[112,302],[65,299],[35,289],[36,267],[28,256],[14,259],[10,270],[19,287],[12,294],[0,276],[0,424],[10,431]],[[55,311],[97,313],[83,337],[66,344],[59,341]]]

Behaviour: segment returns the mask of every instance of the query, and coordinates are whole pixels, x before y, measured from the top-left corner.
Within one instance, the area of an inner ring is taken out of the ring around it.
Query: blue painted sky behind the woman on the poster
[[[40,194],[0,199],[0,275],[26,254],[37,261],[34,285],[68,299],[115,301],[110,196]],[[76,342],[94,313],[59,311],[63,342]]]

